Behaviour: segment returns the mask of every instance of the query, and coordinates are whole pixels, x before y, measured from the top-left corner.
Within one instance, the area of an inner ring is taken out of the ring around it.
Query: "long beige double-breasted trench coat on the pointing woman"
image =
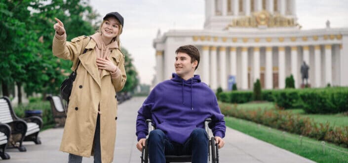
[[[100,104],[102,163],[111,163],[114,159],[116,139],[117,100],[115,97],[116,92],[122,90],[126,82],[124,55],[119,49],[113,49],[109,57],[121,71],[116,79],[111,78],[107,70],[103,70],[100,75],[96,65],[95,46],[94,40],[86,36],[76,37],[71,42],[58,40],[56,37],[53,39],[53,54],[73,61],[72,70],[75,70],[77,60],[80,61],[69,98],[60,151],[83,157],[91,156]],[[83,47],[89,50],[81,54]]]

